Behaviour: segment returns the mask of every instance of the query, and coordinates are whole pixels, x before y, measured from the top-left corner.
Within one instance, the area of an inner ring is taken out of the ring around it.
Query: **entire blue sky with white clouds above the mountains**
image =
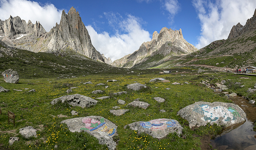
[[[112,60],[138,50],[163,27],[182,29],[198,49],[227,39],[233,25],[251,18],[255,0],[0,0],[0,19],[10,15],[40,21],[46,31],[59,24],[61,12],[79,12],[94,47]]]

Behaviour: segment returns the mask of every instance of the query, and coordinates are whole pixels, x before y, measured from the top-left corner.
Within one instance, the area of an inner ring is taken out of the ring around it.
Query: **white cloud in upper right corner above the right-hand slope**
[[[245,25],[253,16],[255,0],[193,0],[201,22],[201,35],[196,47],[202,48],[216,40],[227,39],[232,26]]]

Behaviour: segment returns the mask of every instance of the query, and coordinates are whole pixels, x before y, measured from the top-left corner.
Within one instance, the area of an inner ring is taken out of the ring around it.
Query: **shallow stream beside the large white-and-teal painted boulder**
[[[246,121],[236,127],[233,130],[229,130],[228,133],[223,133],[214,140],[211,140],[211,145],[214,149],[233,149],[233,150],[243,150],[248,146],[254,145],[256,148],[256,132],[253,131],[253,122],[256,121],[256,107],[248,104],[248,100],[243,99],[240,96],[235,98],[230,97],[230,100],[240,106],[246,113]],[[255,149],[254,148],[254,149]]]

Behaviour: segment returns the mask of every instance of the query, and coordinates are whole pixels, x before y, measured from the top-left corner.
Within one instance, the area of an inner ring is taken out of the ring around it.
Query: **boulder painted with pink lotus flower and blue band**
[[[117,126],[101,116],[87,116],[63,120],[60,123],[66,123],[70,132],[87,132],[99,140],[99,144],[106,144],[109,149],[116,148],[116,142],[113,140]]]

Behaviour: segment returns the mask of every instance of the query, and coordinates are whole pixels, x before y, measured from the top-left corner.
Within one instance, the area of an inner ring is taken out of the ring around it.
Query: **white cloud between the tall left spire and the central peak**
[[[113,14],[111,16],[114,19],[109,19],[109,21],[112,20],[109,24],[116,26],[115,23],[118,20],[116,18],[120,18],[120,16],[114,17]],[[115,35],[110,35],[107,32],[97,33],[91,26],[86,26],[86,29],[97,51],[114,61],[138,50],[143,42],[152,40],[150,33],[142,29],[139,20],[140,18],[128,15],[128,18],[117,23],[120,27],[119,30],[124,31],[123,34],[119,32],[116,32]]]

